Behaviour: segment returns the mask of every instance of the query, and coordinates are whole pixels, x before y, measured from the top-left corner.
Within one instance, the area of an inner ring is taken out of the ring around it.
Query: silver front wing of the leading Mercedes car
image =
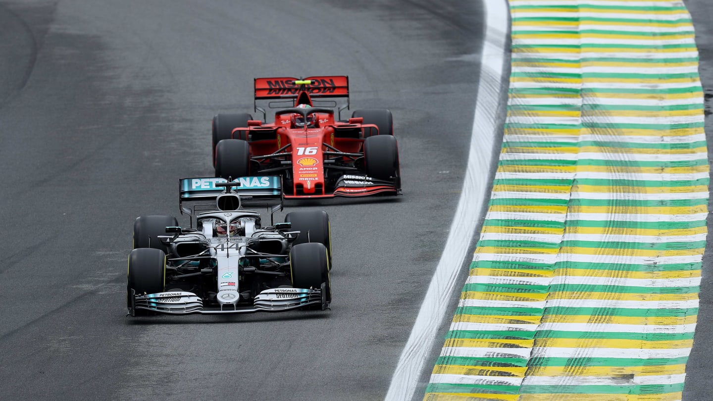
[[[304,308],[310,305],[320,305],[322,310],[329,308],[325,285],[319,290],[304,288],[272,288],[264,290],[255,297],[252,307],[233,304],[220,305],[215,308],[203,308],[203,301],[194,293],[172,291],[136,295],[131,290],[131,306],[127,315],[135,316],[137,310],[148,310],[167,315],[222,315],[232,313],[284,312]]]

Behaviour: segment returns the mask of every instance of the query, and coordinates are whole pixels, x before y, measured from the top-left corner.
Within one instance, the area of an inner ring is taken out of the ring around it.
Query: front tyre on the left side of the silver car
[[[126,281],[126,306],[131,308],[131,290],[136,295],[163,293],[166,254],[154,248],[136,248],[129,253]],[[145,310],[135,310],[144,315]]]

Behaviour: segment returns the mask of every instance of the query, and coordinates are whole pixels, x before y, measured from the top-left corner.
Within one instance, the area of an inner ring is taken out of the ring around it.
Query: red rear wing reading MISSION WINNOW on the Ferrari
[[[349,77],[330,75],[307,78],[255,78],[256,99],[292,98],[296,97],[302,88],[309,93],[309,96],[314,97],[348,97]]]

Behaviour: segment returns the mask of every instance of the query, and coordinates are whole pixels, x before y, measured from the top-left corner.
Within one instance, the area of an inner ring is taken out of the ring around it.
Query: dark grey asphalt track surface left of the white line
[[[383,399],[458,201],[481,18],[466,0],[0,1],[0,398]],[[178,178],[212,174],[210,118],[252,110],[254,77],[319,74],[391,109],[404,184],[288,203],[332,218],[332,310],[126,318],[133,220],[178,214]]]

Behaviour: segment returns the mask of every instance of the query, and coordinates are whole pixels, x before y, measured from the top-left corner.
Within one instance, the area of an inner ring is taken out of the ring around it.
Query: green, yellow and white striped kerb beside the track
[[[680,1],[510,0],[488,214],[426,400],[679,400],[709,168]]]

